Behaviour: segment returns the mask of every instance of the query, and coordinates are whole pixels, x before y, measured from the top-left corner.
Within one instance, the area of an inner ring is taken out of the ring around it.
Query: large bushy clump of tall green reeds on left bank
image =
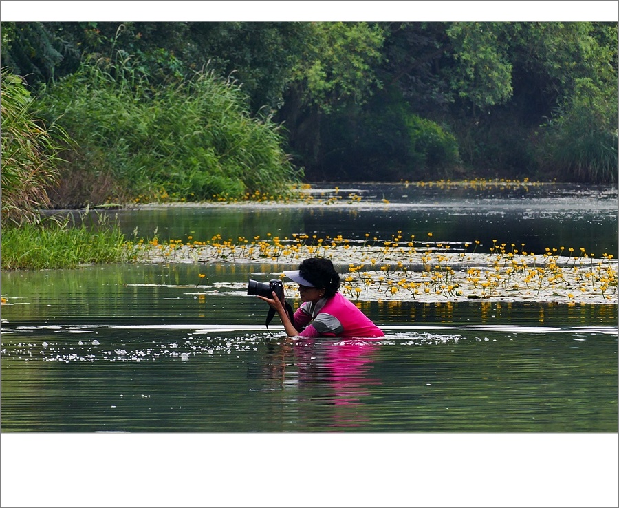
[[[285,193],[298,180],[280,126],[270,116],[251,116],[234,81],[202,71],[151,85],[131,56],[116,56],[84,61],[41,95],[41,111],[77,142],[65,178],[105,175],[108,200],[238,198]]]

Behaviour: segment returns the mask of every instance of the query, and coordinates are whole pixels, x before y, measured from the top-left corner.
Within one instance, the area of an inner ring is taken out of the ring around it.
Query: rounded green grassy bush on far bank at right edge
[[[610,92],[610,93],[609,93]],[[576,182],[617,182],[617,94],[589,78],[556,108],[545,127],[541,167]]]

